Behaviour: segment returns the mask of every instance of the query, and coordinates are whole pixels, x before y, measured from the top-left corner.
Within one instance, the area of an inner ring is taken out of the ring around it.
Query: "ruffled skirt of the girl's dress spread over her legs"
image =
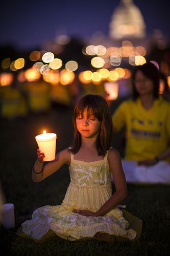
[[[128,227],[129,223],[118,208],[111,210],[105,216],[86,217],[74,214],[71,207],[62,205],[40,207],[33,212],[32,220],[22,223],[23,232],[38,240],[50,229],[67,240],[92,238],[97,232],[133,240],[136,232]]]

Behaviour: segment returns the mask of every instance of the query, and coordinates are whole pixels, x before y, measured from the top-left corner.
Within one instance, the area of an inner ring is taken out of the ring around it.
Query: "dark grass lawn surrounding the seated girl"
[[[41,183],[33,183],[31,170],[36,160],[35,136],[46,129],[57,133],[57,152],[72,141],[72,109],[52,109],[48,114],[29,114],[25,119],[0,119],[0,181],[6,202],[15,205],[16,226],[0,228],[1,255],[169,255],[170,186],[128,185],[128,197],[122,203],[143,221],[141,237],[136,242],[103,242],[98,240],[66,241],[58,237],[36,243],[16,235],[21,223],[31,219],[32,212],[43,205],[61,204],[69,173],[63,166]],[[118,144],[119,137],[115,137]]]

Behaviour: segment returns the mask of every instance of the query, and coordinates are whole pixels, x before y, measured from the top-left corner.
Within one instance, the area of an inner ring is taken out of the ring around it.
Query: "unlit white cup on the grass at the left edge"
[[[2,205],[2,223],[5,228],[15,227],[14,204],[8,203]]]

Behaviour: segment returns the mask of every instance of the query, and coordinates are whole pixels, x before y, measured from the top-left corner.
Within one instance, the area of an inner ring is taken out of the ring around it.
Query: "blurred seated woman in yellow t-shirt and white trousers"
[[[122,160],[127,182],[170,184],[170,103],[159,95],[159,71],[149,62],[132,74],[132,99],[112,116],[114,132],[126,131]]]

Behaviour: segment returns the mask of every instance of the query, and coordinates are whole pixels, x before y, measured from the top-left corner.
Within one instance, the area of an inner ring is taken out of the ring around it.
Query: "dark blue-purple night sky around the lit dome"
[[[36,48],[47,39],[66,34],[89,38],[96,31],[109,35],[111,15],[120,0],[29,0],[1,3],[0,46],[13,44],[20,49]],[[169,0],[134,0],[147,25],[170,35]]]

